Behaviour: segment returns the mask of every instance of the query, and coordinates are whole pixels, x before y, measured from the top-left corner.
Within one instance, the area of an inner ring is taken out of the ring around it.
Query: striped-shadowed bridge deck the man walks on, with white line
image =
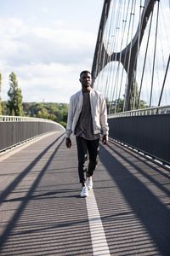
[[[0,254],[170,255],[170,173],[110,142],[83,199],[76,150],[55,133],[0,156]]]

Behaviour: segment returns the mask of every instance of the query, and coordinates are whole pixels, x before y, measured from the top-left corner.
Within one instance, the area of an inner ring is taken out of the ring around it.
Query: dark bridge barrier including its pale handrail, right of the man
[[[170,165],[170,106],[110,115],[110,137]]]

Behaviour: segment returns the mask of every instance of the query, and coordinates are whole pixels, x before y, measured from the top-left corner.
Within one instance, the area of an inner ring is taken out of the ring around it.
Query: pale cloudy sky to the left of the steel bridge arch
[[[0,2],[2,101],[14,72],[23,102],[68,103],[91,71],[104,0]]]

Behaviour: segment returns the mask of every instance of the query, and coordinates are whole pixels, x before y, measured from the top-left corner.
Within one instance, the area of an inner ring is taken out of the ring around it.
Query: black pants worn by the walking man
[[[97,166],[97,159],[99,155],[99,139],[86,140],[83,137],[77,137],[77,156],[78,156],[78,174],[80,183],[84,183],[87,176],[92,176]],[[88,160],[88,167],[86,162]]]

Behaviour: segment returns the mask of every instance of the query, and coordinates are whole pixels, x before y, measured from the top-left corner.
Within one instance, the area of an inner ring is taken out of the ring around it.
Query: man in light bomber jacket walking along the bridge
[[[109,127],[105,99],[91,87],[92,75],[84,70],[80,73],[79,81],[82,90],[71,96],[65,131],[65,145],[71,148],[71,133],[76,135],[78,174],[82,183],[82,197],[88,196],[88,190],[93,188],[92,176],[97,166],[99,154],[99,137],[102,142],[108,142]],[[88,169],[86,161],[88,162]],[[84,177],[86,172],[86,177]]]

